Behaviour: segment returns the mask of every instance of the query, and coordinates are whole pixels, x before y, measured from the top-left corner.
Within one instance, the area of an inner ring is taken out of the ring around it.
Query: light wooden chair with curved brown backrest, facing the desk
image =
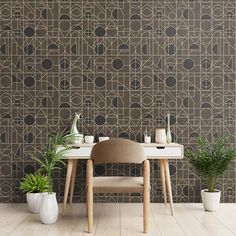
[[[105,163],[138,163],[143,165],[143,177],[93,177],[93,165]],[[148,231],[150,208],[150,164],[143,147],[133,141],[114,139],[93,146],[87,161],[88,232],[93,232],[93,193],[143,193],[143,231]]]

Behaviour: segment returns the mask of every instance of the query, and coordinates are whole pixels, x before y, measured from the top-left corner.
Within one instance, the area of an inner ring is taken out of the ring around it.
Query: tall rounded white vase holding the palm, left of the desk
[[[56,193],[46,193],[42,195],[40,206],[40,220],[43,224],[53,224],[58,218],[58,204]]]

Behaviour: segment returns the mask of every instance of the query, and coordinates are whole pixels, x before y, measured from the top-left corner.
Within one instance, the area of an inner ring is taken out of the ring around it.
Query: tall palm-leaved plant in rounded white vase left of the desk
[[[39,163],[40,171],[44,173],[49,181],[48,192],[42,195],[40,206],[40,220],[44,224],[53,224],[58,218],[58,203],[56,193],[53,192],[53,173],[61,170],[59,165],[65,165],[63,156],[68,151],[65,146],[63,150],[57,150],[57,145],[65,145],[65,138],[62,134],[56,134],[49,138],[49,145],[42,151],[41,157],[32,157]]]

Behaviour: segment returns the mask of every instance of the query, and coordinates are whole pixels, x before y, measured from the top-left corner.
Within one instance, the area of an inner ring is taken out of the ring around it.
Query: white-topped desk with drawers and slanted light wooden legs
[[[78,160],[89,159],[91,149],[95,145],[93,144],[80,144],[74,145],[73,149],[69,150],[65,156],[65,159],[68,159],[67,165],[67,174],[66,174],[66,185],[64,192],[64,202],[63,209],[66,208],[66,203],[68,199],[69,189],[70,189],[70,200],[69,203],[72,204],[74,185],[75,185],[75,176],[76,176],[76,167]],[[144,144],[140,143],[144,147],[144,153],[148,159],[157,159],[160,162],[160,173],[161,173],[161,182],[164,193],[164,202],[167,203],[166,192],[169,196],[171,214],[174,214],[173,208],[173,198],[171,190],[171,180],[169,172],[169,159],[182,159],[184,157],[184,148],[183,145],[177,143],[170,144]],[[58,149],[63,149],[59,146]]]

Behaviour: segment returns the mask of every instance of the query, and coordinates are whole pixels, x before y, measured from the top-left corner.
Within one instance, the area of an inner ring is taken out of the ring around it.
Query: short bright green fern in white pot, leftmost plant
[[[39,172],[28,174],[21,181],[20,190],[26,193],[30,211],[32,213],[39,213],[42,193],[49,190],[49,179]]]

